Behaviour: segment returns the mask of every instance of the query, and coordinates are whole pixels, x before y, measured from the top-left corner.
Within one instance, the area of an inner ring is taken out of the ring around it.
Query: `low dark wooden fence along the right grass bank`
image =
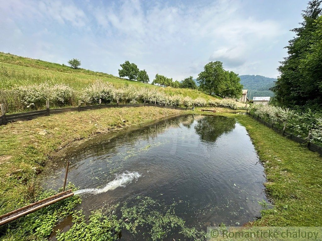
[[[283,129],[279,129],[279,128],[274,126],[274,123],[268,123],[265,120],[262,120],[259,117],[259,115],[257,115],[257,116],[252,115],[248,110],[246,112],[246,115],[249,115],[252,119],[257,120],[261,124],[264,124],[265,126],[271,128],[272,130],[274,130],[275,132],[279,133],[280,135],[285,136],[285,137],[287,137],[287,138],[289,138],[289,139],[291,139],[291,140],[293,140],[295,142],[298,142],[298,143],[300,143],[302,145],[305,145],[306,147],[308,147],[309,150],[317,152],[320,155],[322,155],[322,146],[319,146],[317,144],[314,144],[314,143],[310,142],[310,140],[309,140],[310,133],[311,133],[310,131],[308,133],[308,140],[306,140],[306,139],[300,138],[300,137],[298,137],[298,136],[296,136],[296,135],[294,135],[292,133],[289,133],[289,132],[285,131],[286,125],[284,126]]]

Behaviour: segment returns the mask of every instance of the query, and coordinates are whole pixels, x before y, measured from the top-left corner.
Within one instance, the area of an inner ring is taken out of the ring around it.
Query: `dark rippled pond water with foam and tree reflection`
[[[66,161],[87,215],[148,196],[177,202],[176,215],[205,230],[253,221],[260,216],[258,201],[267,201],[264,169],[246,129],[222,116],[179,116],[99,135],[67,150],[50,168],[46,187],[62,186]],[[68,226],[70,219],[59,228]],[[122,240],[141,239],[125,233]]]

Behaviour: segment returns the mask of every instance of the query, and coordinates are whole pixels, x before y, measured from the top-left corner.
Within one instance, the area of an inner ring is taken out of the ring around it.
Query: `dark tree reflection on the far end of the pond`
[[[201,140],[215,142],[223,133],[230,132],[235,127],[236,121],[224,116],[204,116],[194,126]]]

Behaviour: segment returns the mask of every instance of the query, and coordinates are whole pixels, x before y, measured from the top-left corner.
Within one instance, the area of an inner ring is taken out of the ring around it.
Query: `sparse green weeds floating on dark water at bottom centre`
[[[137,197],[137,203],[128,206],[127,203],[121,208],[122,220],[121,226],[133,234],[137,234],[138,230],[149,227],[148,234],[151,239],[163,240],[175,230],[184,237],[193,240],[205,240],[205,233],[197,231],[195,228],[188,228],[185,221],[175,215],[174,202],[170,206],[160,204],[150,197]]]

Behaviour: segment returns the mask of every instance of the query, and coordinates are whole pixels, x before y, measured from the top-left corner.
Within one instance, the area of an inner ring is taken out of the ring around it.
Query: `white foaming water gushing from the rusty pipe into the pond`
[[[81,189],[74,194],[82,194],[82,193],[91,193],[91,194],[99,194],[102,192],[107,192],[109,190],[114,190],[118,187],[126,187],[126,184],[131,183],[134,179],[137,180],[141,174],[138,172],[126,172],[122,174],[116,174],[116,177],[113,181],[106,184],[105,187],[102,188],[86,188]]]

